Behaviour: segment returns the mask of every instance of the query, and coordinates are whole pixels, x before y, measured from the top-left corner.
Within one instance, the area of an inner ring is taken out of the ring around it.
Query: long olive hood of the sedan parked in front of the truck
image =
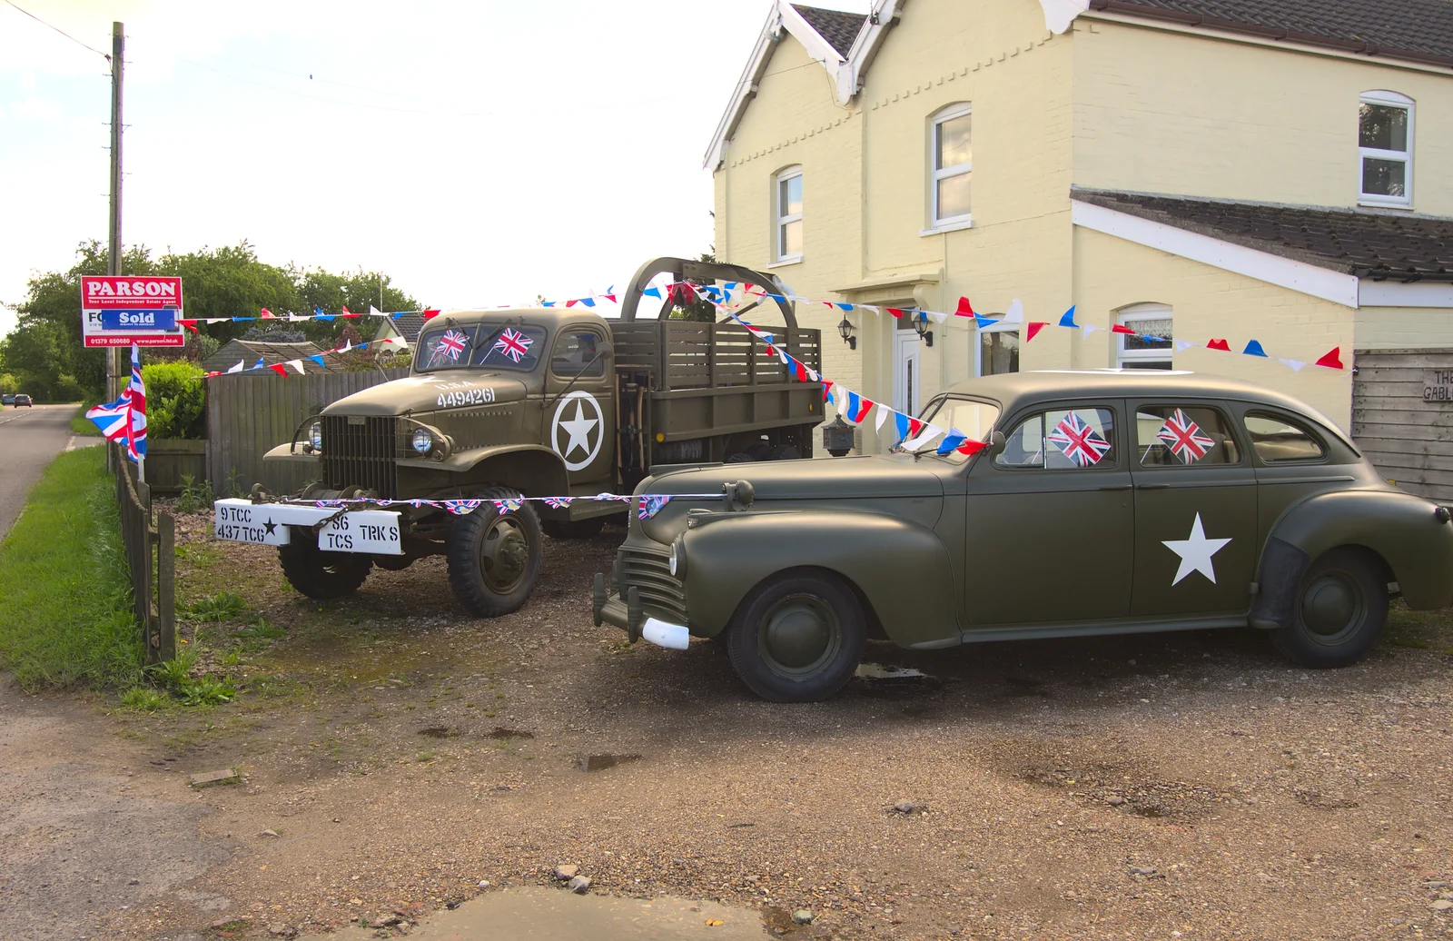
[[[719,494],[722,484],[748,481],[756,500],[843,500],[943,497],[934,457],[865,455],[819,460],[763,460],[668,470],[647,478],[641,494]]]

